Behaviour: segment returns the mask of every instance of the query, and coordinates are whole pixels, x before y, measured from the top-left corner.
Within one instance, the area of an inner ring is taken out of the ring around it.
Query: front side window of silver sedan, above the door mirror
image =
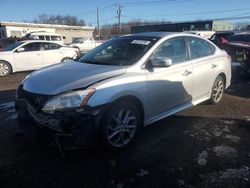
[[[151,59],[171,59],[173,64],[188,60],[185,41],[183,38],[173,38],[165,41],[153,54]]]

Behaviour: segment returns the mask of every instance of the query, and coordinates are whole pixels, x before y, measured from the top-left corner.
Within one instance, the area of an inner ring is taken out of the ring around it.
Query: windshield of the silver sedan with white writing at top
[[[134,64],[159,38],[125,36],[111,39],[93,49],[80,61],[102,65]]]

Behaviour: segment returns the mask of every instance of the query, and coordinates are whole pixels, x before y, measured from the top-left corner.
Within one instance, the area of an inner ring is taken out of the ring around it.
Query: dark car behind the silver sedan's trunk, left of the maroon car
[[[235,31],[216,31],[209,40],[216,44],[219,48],[222,48],[223,44],[228,42],[228,38],[234,33]]]

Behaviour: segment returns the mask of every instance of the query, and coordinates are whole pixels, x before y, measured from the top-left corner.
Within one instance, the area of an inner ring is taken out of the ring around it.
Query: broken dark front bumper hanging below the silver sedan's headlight
[[[64,111],[55,115],[37,110],[25,99],[17,99],[18,124],[25,135],[39,130],[52,133],[63,149],[88,147],[96,142],[96,122],[92,109]]]

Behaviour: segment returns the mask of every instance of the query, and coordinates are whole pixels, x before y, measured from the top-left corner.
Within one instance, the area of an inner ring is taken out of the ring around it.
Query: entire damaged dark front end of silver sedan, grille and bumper
[[[54,96],[27,92],[20,85],[15,103],[18,124],[25,135],[46,130],[60,150],[89,147],[96,142],[96,119],[101,107],[84,106],[44,113],[44,105]]]

